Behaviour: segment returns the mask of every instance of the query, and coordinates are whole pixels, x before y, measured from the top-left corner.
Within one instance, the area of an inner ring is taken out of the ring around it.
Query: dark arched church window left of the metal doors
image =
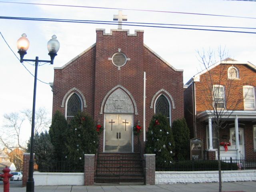
[[[74,93],[68,98],[67,102],[67,120],[70,120],[78,111],[82,111],[82,102],[80,97]]]

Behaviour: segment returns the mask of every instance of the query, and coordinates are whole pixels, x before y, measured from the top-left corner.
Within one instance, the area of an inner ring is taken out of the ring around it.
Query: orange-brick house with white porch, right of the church
[[[227,149],[220,146],[220,157],[256,158],[255,86],[256,66],[230,58],[196,74],[186,83],[184,116],[190,137],[203,140],[205,159],[217,158],[217,132],[212,126],[214,103],[216,110],[223,111],[220,145],[230,142]]]

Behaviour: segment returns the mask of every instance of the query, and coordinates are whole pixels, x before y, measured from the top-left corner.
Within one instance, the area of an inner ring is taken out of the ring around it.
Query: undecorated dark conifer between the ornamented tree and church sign
[[[175,160],[189,159],[189,129],[185,118],[172,123],[172,132],[175,141]]]

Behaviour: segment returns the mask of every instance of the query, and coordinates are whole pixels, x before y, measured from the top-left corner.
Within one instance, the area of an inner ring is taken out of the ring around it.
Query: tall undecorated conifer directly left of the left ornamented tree
[[[52,119],[49,135],[54,146],[55,158],[59,161],[63,160],[66,156],[67,131],[68,123],[66,118],[59,110],[57,110]]]

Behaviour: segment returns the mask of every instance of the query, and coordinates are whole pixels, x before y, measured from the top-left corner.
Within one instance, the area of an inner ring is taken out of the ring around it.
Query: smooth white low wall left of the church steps
[[[39,185],[84,185],[84,173],[34,172],[35,186]]]

